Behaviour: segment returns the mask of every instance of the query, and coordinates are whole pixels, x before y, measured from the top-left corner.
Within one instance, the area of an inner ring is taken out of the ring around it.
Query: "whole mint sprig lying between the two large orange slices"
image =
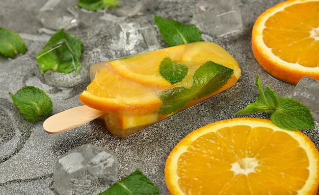
[[[308,107],[297,100],[279,97],[269,86],[263,91],[260,77],[257,75],[256,86],[260,96],[256,102],[235,114],[265,112],[278,127],[287,130],[314,129],[314,118]]]

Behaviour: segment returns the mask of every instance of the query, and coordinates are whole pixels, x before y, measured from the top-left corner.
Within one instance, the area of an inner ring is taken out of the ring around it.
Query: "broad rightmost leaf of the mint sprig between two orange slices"
[[[314,119],[308,107],[286,97],[280,98],[279,105],[270,119],[276,126],[287,130],[315,128]]]

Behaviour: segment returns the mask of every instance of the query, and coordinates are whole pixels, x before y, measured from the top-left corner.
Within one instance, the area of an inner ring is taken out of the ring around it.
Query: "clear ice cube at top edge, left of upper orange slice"
[[[243,27],[241,9],[234,2],[224,0],[199,1],[192,23],[202,32],[214,36],[239,32]]]

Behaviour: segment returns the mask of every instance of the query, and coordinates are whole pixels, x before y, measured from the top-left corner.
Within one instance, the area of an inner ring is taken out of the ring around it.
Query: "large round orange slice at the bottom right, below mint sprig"
[[[183,138],[166,161],[171,194],[316,194],[319,152],[300,131],[233,118]]]

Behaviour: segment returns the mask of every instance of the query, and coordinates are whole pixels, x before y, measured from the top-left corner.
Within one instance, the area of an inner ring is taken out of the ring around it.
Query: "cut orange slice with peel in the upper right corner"
[[[319,80],[319,1],[284,1],[262,13],[252,30],[252,51],[277,79]]]

